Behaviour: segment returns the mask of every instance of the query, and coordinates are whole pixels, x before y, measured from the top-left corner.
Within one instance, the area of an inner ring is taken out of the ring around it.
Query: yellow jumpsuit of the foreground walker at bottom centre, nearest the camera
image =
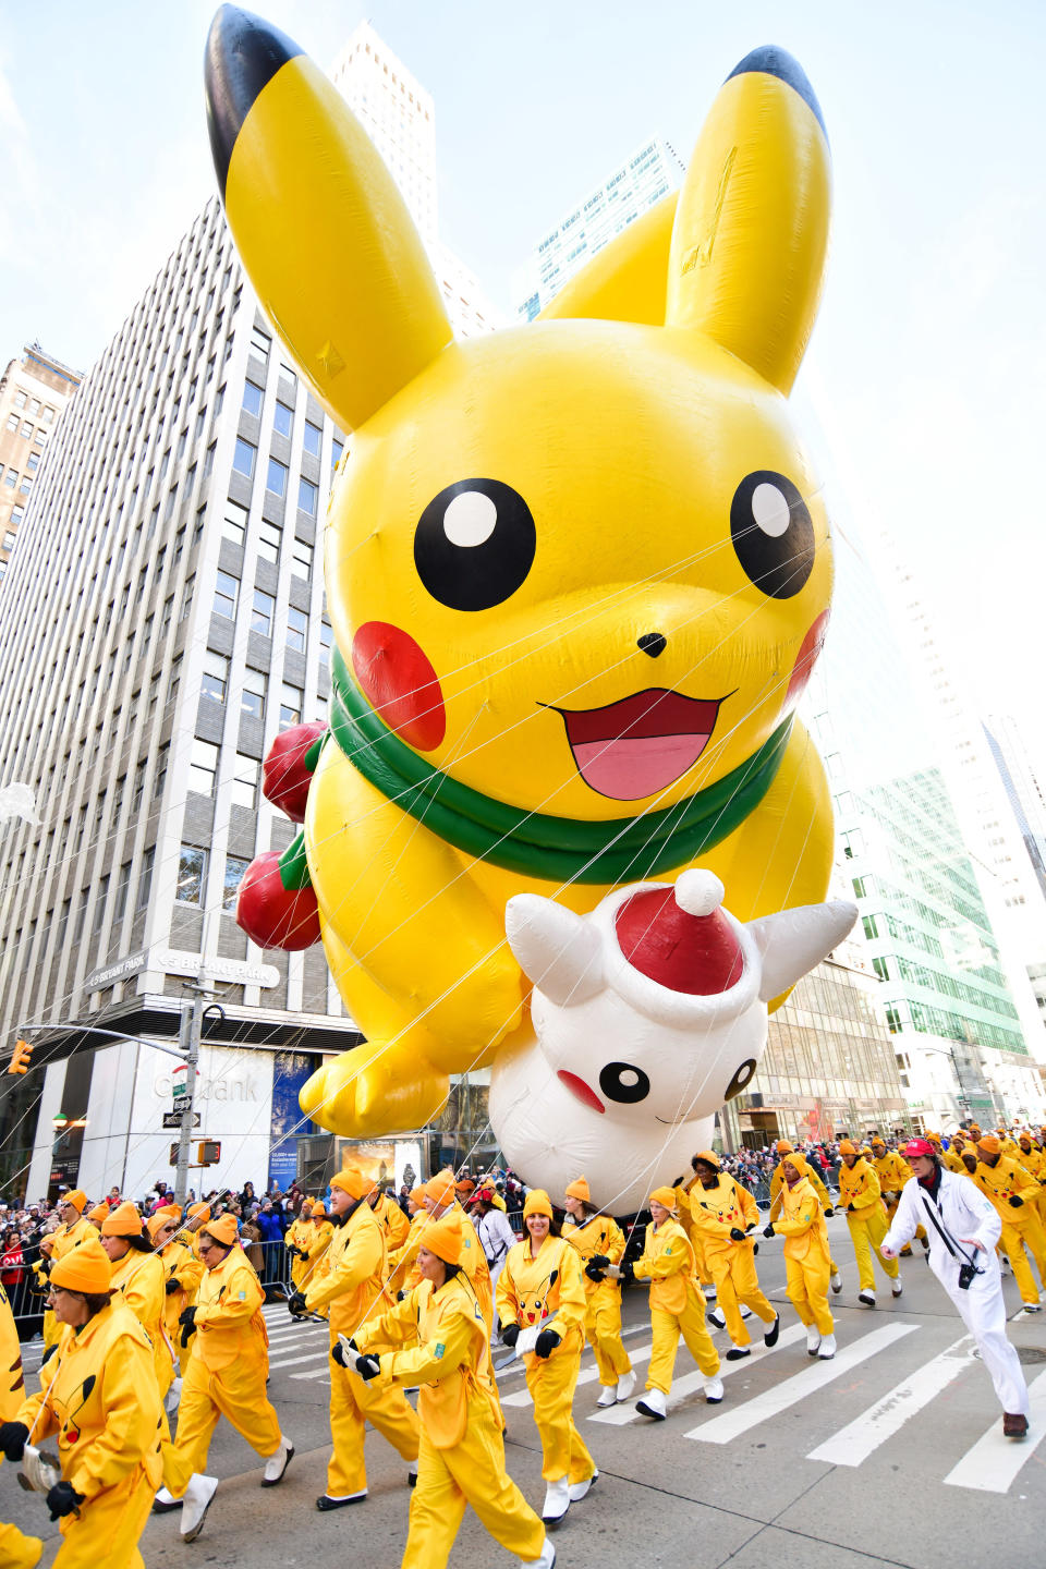
[[[375,1384],[420,1385],[417,1487],[403,1569],[442,1569],[470,1503],[491,1536],[524,1561],[538,1558],[544,1525],[505,1470],[500,1411],[489,1392],[489,1341],[475,1293],[455,1276],[423,1280],[367,1323],[356,1341],[400,1346],[380,1357]]]

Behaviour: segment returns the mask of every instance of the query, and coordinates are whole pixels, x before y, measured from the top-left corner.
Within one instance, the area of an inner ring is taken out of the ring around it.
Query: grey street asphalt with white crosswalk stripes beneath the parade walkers
[[[701,1376],[681,1346],[668,1420],[652,1423],[635,1401],[596,1409],[591,1351],[582,1359],[574,1418],[599,1467],[588,1498],[555,1533],[560,1569],[656,1564],[660,1569],[955,1569],[991,1553],[1041,1563],[1046,1531],[1046,1313],[1027,1315],[1005,1277],[1010,1337],[1032,1390],[1032,1431],[1002,1437],[985,1368],[952,1304],[916,1244],[902,1260],[905,1290],[878,1280],[878,1305],[856,1301],[856,1265],[842,1218],[828,1222],[842,1266],[831,1299],[839,1345],[833,1362],[811,1360],[804,1332],[784,1294],[781,1241],[761,1241],[764,1290],[781,1309],[781,1338],[762,1346],[751,1318],[753,1356],[723,1362],[726,1396],[707,1406]],[[270,1398],[296,1447],[279,1487],[260,1487],[260,1462],[226,1423],[210,1451],[221,1478],[202,1534],[179,1536],[177,1514],[152,1517],[141,1539],[149,1566],[351,1563],[397,1569],[406,1536],[406,1467],[378,1434],[367,1436],[369,1498],[320,1514],[329,1450],[326,1329],[295,1324],[285,1307],[265,1309]],[[624,1305],[626,1346],[641,1390],[649,1360],[646,1290]],[[715,1332],[720,1352],[729,1346]],[[496,1360],[503,1362],[507,1352]],[[39,1343],[27,1348],[27,1381]],[[499,1373],[513,1478],[541,1508],[541,1450],[522,1367]],[[0,1519],[47,1539],[44,1569],[58,1545],[42,1497],[16,1486],[0,1465]],[[467,1511],[450,1564],[502,1569],[514,1563]]]

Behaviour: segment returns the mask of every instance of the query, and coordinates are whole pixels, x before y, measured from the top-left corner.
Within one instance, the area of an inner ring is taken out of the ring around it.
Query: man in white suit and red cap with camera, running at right
[[[1022,1439],[1027,1434],[1027,1384],[1018,1354],[1007,1340],[996,1255],[1002,1230],[999,1213],[968,1177],[957,1177],[941,1166],[927,1139],[913,1139],[902,1155],[914,1177],[900,1191],[880,1252],[884,1258],[895,1258],[919,1225],[925,1225],[930,1268],[977,1341],[1002,1406],[1002,1431],[1008,1439]]]

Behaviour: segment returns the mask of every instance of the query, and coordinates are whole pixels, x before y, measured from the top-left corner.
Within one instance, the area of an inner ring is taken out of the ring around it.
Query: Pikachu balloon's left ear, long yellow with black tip
[[[223,6],[204,77],[243,265],[315,395],[353,430],[453,336],[422,242],[340,93],[284,33]]]

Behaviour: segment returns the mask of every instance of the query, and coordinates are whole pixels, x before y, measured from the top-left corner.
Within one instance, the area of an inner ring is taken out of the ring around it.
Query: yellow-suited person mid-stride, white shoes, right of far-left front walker
[[[262,1487],[282,1481],[295,1447],[279,1431],[279,1417],[265,1395],[268,1335],[262,1318],[265,1293],[242,1247],[234,1214],[207,1221],[199,1233],[204,1276],[196,1302],[182,1313],[182,1346],[193,1340],[182,1379],[174,1443],[165,1447],[165,1487],[154,1509],[182,1509],[182,1538],[196,1541],[218,1487],[207,1476],[207,1451],[218,1418],[226,1417],[265,1461]],[[193,1338],[194,1337],[194,1338]]]

